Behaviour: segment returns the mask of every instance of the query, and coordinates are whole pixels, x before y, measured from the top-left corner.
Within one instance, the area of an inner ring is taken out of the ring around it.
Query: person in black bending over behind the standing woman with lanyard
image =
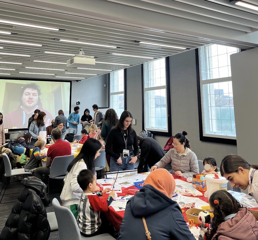
[[[166,152],[159,146],[157,141],[153,138],[142,138],[137,135],[138,146],[141,149],[139,154],[138,173],[148,172],[148,166],[151,168],[156,164],[156,161],[160,161],[166,154]],[[147,165],[148,164],[148,165]]]

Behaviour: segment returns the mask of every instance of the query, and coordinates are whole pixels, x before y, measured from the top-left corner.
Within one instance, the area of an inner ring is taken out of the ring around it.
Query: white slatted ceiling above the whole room
[[[246,2],[258,5],[257,1]],[[75,80],[92,77],[84,74],[105,74],[137,65],[149,59],[114,56],[108,53],[122,53],[143,57],[161,58],[185,50],[168,47],[154,48],[141,46],[135,41],[145,41],[179,47],[187,50],[209,43],[235,45],[245,49],[258,46],[258,11],[229,3],[229,0],[28,0],[0,1],[0,20],[28,23],[65,31],[41,31],[14,27],[0,23],[1,40],[42,44],[42,47],[0,42],[0,52],[26,54],[30,57],[7,56],[0,54],[0,61],[19,62],[22,65],[3,64],[2,77],[47,78]],[[54,39],[67,39],[99,43],[120,48],[87,46],[66,43]],[[83,39],[83,40],[82,40]],[[44,51],[78,54],[83,47],[85,55],[96,57],[96,63],[83,70],[68,68],[65,64],[40,63],[33,60],[57,61],[66,63],[66,55],[44,53]],[[116,65],[115,63],[126,64]],[[39,70],[25,67],[40,67],[63,70]],[[95,69],[104,69],[95,70]],[[19,72],[47,73],[55,75],[22,74]],[[11,75],[4,75],[10,73]],[[79,73],[79,74],[67,74]]]

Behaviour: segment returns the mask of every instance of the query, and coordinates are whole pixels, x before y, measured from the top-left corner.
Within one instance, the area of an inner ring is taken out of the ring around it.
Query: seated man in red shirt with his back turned
[[[52,130],[52,137],[55,144],[47,149],[47,161],[45,167],[35,169],[35,177],[43,180],[43,175],[50,174],[50,166],[55,157],[71,155],[71,145],[67,141],[63,141],[62,131],[57,127]]]

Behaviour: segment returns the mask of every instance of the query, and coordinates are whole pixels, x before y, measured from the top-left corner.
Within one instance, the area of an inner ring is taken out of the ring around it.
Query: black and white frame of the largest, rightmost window
[[[223,77],[223,78],[201,80],[201,67],[200,67],[201,59],[199,56],[200,56],[200,48],[195,49],[200,141],[217,142],[217,143],[236,145],[237,144],[236,137],[213,135],[213,134],[205,133],[202,85],[209,84],[209,83],[215,83],[215,82],[216,83],[228,82],[228,81],[232,81],[232,78],[231,77]]]

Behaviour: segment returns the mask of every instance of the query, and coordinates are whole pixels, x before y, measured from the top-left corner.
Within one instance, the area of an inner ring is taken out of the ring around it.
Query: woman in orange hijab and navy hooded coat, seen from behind
[[[177,202],[171,199],[175,180],[166,169],[151,172],[143,188],[128,200],[117,240],[147,239],[145,217],[151,239],[195,240]]]

